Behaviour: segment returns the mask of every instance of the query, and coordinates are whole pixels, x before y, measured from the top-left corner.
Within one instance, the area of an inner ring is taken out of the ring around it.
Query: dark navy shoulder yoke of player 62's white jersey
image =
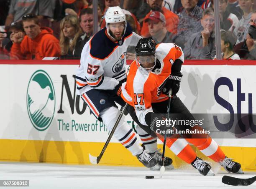
[[[125,34],[122,38],[122,43],[124,43],[124,40],[131,35],[132,28],[127,24]],[[107,28],[100,30],[90,40],[90,55],[92,58],[104,60],[105,58],[108,58],[116,48],[118,48],[118,42],[113,42],[108,37]]]

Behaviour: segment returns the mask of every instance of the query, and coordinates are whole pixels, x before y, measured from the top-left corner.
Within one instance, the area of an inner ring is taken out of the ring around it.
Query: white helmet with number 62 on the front
[[[118,6],[109,7],[105,13],[105,21],[106,25],[108,25],[108,23],[125,22],[125,13],[123,13],[123,10]]]

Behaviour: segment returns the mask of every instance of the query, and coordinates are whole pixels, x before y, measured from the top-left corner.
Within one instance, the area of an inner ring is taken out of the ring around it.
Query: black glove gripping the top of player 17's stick
[[[164,85],[163,93],[168,95],[169,90],[172,88],[172,94],[176,95],[179,91],[179,83],[181,81],[181,78],[182,73],[172,73]]]

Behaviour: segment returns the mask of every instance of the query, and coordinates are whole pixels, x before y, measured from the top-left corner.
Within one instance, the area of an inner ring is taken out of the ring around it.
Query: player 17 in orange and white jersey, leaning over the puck
[[[170,88],[173,94],[170,113],[192,116],[176,96],[182,78],[180,71],[183,62],[182,49],[174,43],[156,45],[152,38],[143,38],[136,46],[136,60],[128,68],[127,81],[122,85],[121,97],[130,105],[128,111],[133,120],[151,136],[154,136],[151,130],[155,128],[151,118],[159,119],[156,113],[166,113]],[[185,137],[179,138],[179,136],[167,138],[166,146],[179,158],[191,164],[200,174],[207,175],[213,172],[206,161],[197,157],[188,142],[218,162],[228,172],[242,173],[241,164],[227,158],[220,146],[209,135],[205,134],[204,137],[197,139],[195,137],[184,139]],[[159,138],[163,141],[163,137]]]

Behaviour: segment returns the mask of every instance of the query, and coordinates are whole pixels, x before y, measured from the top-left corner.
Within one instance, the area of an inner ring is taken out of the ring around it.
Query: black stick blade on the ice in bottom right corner
[[[248,179],[239,179],[232,176],[223,176],[221,180],[224,184],[233,185],[233,186],[248,186],[253,184],[256,181],[256,176],[253,176]]]

